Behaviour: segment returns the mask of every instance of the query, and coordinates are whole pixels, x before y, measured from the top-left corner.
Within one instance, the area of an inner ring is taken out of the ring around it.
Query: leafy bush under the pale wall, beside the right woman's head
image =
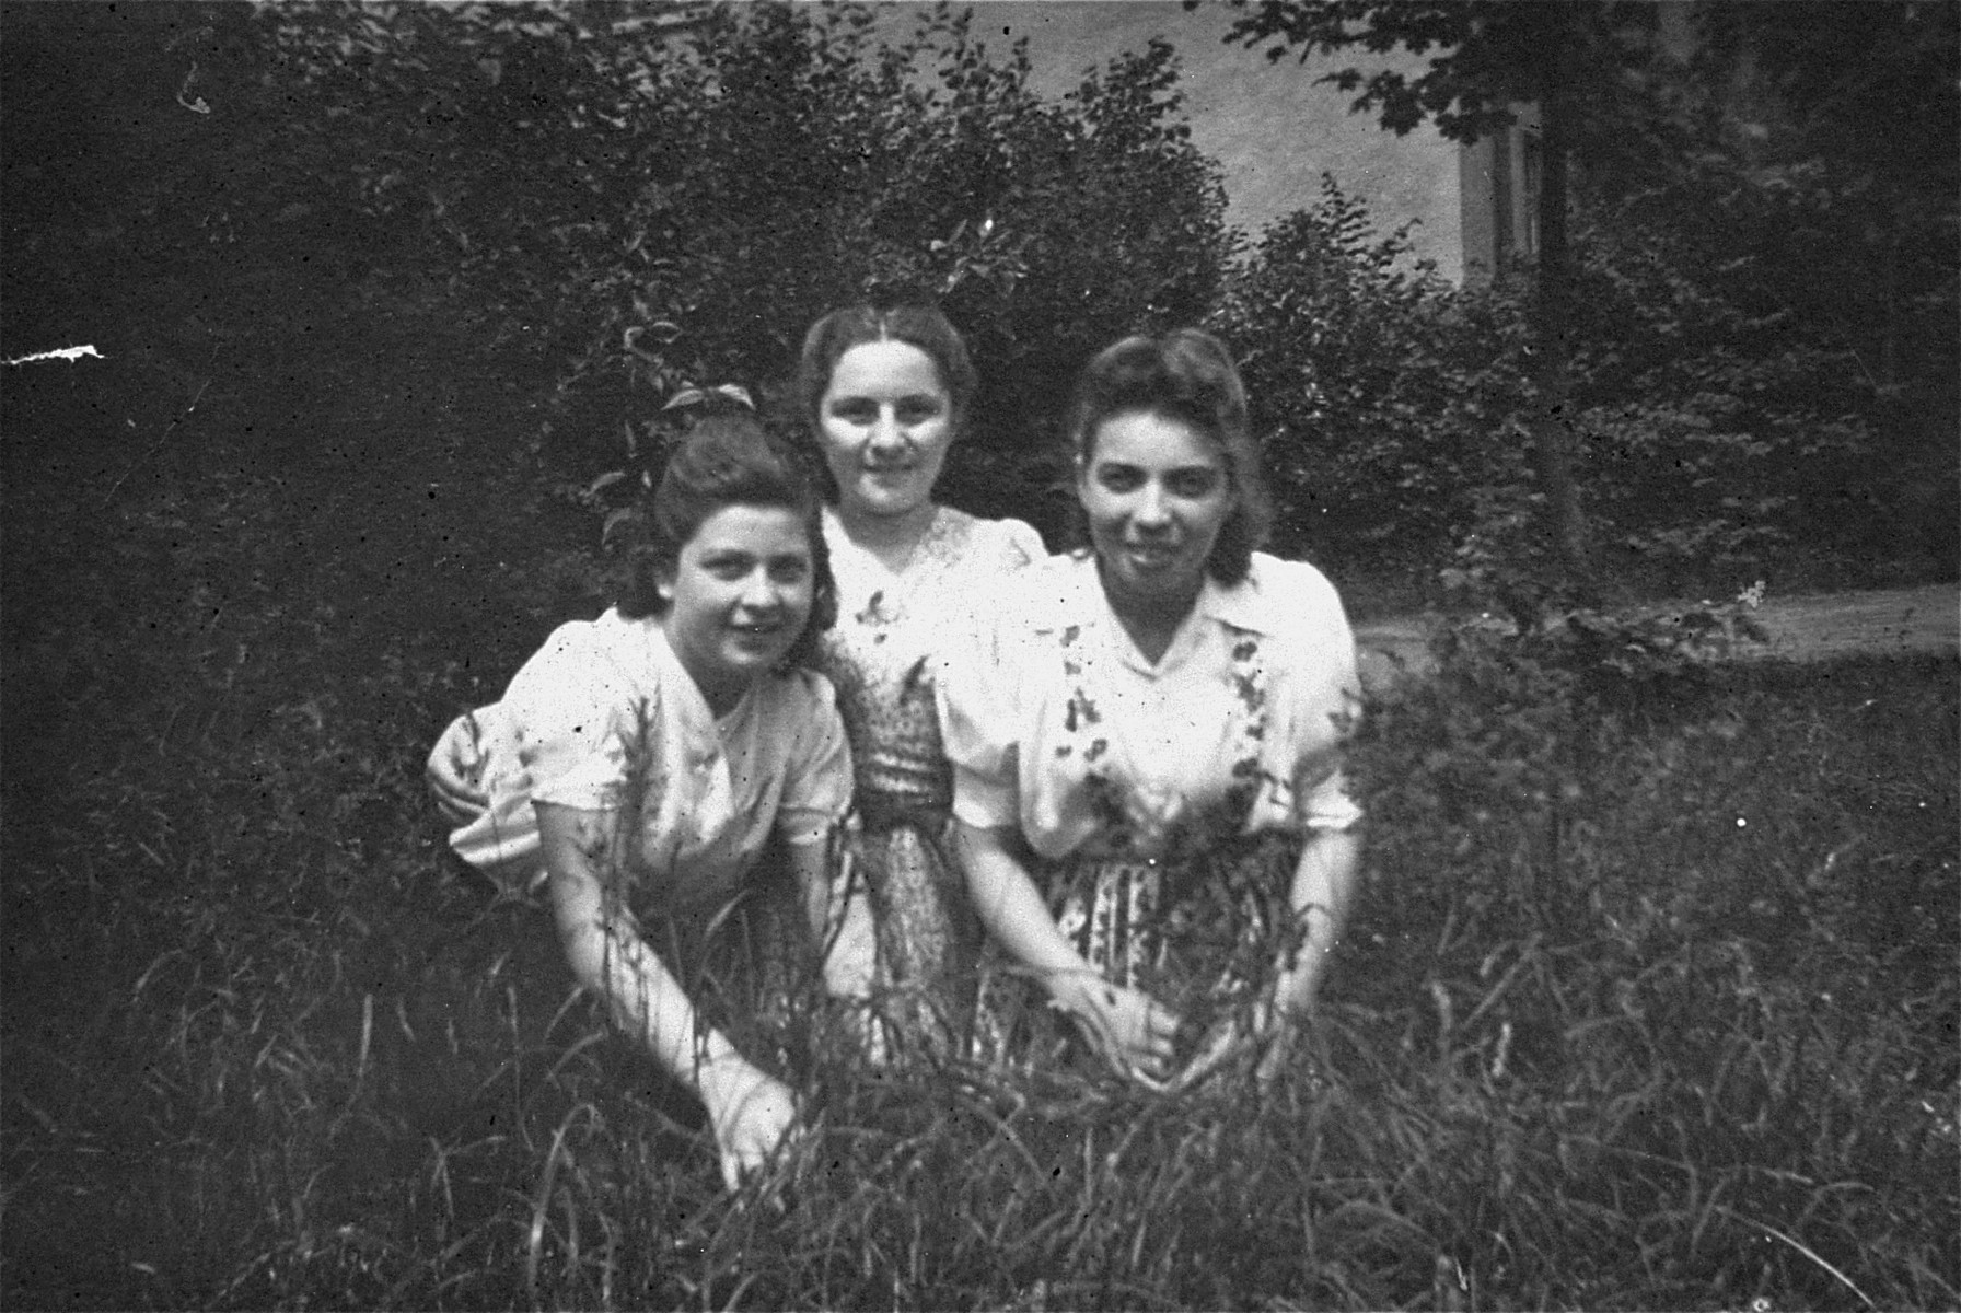
[[[1435,562],[1477,523],[1477,488],[1524,478],[1506,415],[1524,404],[1514,319],[1481,359],[1465,312],[1404,231],[1322,180],[1265,231],[1216,323],[1241,359],[1288,547],[1371,570]],[[1492,323],[1479,327],[1490,329]]]

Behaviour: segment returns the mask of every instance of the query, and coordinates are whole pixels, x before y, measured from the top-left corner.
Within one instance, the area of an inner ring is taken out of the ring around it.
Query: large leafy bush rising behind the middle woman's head
[[[1047,437],[1073,368],[1216,294],[1224,192],[1169,45],[1051,102],[1024,49],[994,55],[945,8],[896,43],[851,6],[612,14],[261,18],[269,76],[306,108],[282,131],[310,204],[494,286],[563,357],[582,435],[614,443],[688,382],[780,392],[824,310],[928,296],[984,380],[953,494],[1000,510],[1030,494],[998,476]]]

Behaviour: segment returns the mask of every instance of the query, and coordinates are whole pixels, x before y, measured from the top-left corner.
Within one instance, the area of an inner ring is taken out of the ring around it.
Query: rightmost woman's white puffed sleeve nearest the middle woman
[[[1018,821],[1020,660],[1002,619],[1014,615],[1006,588],[979,590],[949,625],[933,672],[939,737],[953,762],[953,815],[980,829]]]

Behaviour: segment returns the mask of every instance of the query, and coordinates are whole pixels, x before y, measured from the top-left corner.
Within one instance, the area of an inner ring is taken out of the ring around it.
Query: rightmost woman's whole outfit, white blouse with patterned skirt
[[[955,813],[1020,829],[1057,925],[1186,1021],[1184,1050],[1271,984],[1304,835],[1349,829],[1361,705],[1333,586],[1255,555],[1206,582],[1157,662],[1088,555],[1012,584],[939,680]]]

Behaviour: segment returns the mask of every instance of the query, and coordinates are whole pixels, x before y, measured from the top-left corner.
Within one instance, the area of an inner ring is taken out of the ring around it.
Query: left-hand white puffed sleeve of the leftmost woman
[[[626,741],[637,735],[647,696],[602,649],[592,623],[559,625],[504,694],[531,800],[586,811],[618,807]]]

